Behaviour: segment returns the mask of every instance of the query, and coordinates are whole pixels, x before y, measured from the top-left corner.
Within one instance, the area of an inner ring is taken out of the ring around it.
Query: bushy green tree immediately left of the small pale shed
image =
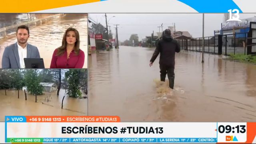
[[[28,92],[33,95],[42,95],[44,87],[40,84],[41,80],[38,70],[31,69],[25,71],[25,85]]]

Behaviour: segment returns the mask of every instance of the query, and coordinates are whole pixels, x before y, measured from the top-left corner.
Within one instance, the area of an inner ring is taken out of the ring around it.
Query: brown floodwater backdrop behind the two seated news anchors
[[[38,16],[42,15],[38,14]],[[80,49],[85,54],[83,68],[87,68],[87,22],[87,14],[65,14],[54,18],[46,24],[29,26],[30,38],[28,43],[38,48],[40,57],[44,58],[45,68],[50,68],[52,54],[56,48],[61,46],[64,32],[69,27],[76,28],[80,34]],[[16,31],[8,34],[7,37],[0,39],[0,68],[2,67],[4,48],[17,42]]]

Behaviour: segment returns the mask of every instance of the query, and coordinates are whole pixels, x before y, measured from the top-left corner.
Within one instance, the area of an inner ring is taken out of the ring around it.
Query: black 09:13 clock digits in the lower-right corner
[[[236,133],[245,133],[246,132],[245,127],[246,127],[245,125],[237,125],[235,127],[232,127],[230,125],[226,125],[226,126],[220,125],[218,127],[218,131],[220,133],[224,133],[224,132],[226,132],[226,133],[230,133],[230,132],[232,132],[232,133],[235,133],[235,132]]]

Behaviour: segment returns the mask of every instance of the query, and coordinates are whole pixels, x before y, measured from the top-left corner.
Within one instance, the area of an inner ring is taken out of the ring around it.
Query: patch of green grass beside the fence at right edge
[[[236,61],[236,62],[246,62],[256,64],[256,56],[253,55],[244,55],[244,54],[230,54],[228,60]]]

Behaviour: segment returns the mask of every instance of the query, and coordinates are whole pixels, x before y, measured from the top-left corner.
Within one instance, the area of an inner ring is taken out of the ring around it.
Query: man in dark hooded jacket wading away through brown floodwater
[[[149,66],[153,65],[158,54],[160,53],[160,79],[162,82],[165,81],[166,74],[169,79],[169,87],[174,87],[174,66],[175,66],[175,52],[180,52],[180,45],[171,36],[169,29],[164,30],[162,34],[162,40],[160,40],[156,46],[156,50],[150,59]]]

